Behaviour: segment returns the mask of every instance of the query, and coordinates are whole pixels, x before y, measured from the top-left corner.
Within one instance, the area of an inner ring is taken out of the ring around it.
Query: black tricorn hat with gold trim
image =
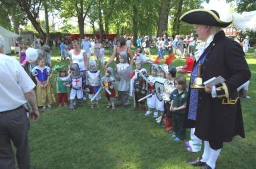
[[[180,20],[189,24],[204,24],[217,27],[227,27],[232,23],[232,21],[221,21],[218,12],[207,9],[196,9],[185,12],[180,17]]]

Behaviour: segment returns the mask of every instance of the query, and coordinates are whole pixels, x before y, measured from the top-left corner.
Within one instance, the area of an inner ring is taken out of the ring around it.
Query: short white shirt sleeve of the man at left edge
[[[33,80],[29,77],[23,67],[18,63],[18,61],[14,62],[16,68],[16,76],[17,76],[17,83],[20,86],[23,93],[27,93],[30,90],[34,89],[36,86]]]

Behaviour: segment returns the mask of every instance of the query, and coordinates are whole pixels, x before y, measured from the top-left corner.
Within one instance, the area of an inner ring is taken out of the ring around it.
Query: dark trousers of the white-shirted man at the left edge
[[[29,169],[29,120],[24,108],[7,113],[0,112],[0,168],[15,168],[15,158],[11,141],[16,148],[18,168]]]

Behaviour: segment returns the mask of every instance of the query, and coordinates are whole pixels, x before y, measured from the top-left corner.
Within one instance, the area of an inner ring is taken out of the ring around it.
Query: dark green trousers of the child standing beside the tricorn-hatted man
[[[173,131],[175,132],[175,135],[180,140],[184,140],[186,138],[186,129],[183,127],[185,114],[179,113],[179,112],[173,112],[172,120],[174,124]]]

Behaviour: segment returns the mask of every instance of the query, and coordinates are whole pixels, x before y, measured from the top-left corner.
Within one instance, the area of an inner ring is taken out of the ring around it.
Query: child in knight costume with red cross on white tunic
[[[67,80],[70,85],[70,109],[74,110],[76,108],[76,99],[82,102],[83,99],[83,89],[82,89],[82,76],[80,74],[79,65],[77,63],[70,65],[71,75]]]

